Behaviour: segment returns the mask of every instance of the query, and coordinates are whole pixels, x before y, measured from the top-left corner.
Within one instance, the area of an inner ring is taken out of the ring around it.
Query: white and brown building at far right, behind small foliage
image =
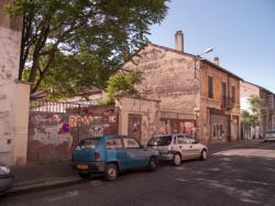
[[[249,98],[260,97],[264,101],[264,109],[261,113],[260,124],[251,128],[251,139],[258,139],[264,135],[265,130],[275,129],[275,94],[249,82],[241,83],[241,110],[249,110]],[[246,137],[248,138],[248,137]]]

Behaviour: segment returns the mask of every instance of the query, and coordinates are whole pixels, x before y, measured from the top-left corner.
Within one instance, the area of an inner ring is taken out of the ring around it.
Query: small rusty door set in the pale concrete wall
[[[129,113],[128,119],[128,135],[135,138],[136,140],[141,141],[141,122],[142,116],[141,115],[133,115]]]

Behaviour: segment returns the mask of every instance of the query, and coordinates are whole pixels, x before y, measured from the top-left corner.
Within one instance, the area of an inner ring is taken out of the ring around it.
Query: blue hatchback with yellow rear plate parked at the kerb
[[[91,173],[103,173],[108,181],[117,178],[119,172],[147,167],[154,171],[158,152],[143,148],[134,138],[105,135],[82,139],[72,158],[72,167],[80,177]]]

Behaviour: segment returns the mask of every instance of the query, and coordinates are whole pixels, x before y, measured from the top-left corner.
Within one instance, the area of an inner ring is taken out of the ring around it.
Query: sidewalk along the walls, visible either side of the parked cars
[[[213,143],[209,145],[210,154],[238,148],[249,148],[260,140],[242,140],[234,142]],[[85,182],[70,169],[70,162],[55,162],[43,164],[26,164],[12,167],[15,176],[9,195],[24,194],[32,191],[43,191],[54,187],[64,187]]]

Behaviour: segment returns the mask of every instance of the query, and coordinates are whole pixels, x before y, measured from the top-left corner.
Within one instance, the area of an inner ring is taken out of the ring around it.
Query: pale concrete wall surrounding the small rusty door
[[[120,109],[120,134],[128,135],[129,133],[129,115],[140,115],[142,117],[141,142],[143,144],[145,144],[152,135],[158,133],[160,106],[157,100],[117,97],[116,106]]]

